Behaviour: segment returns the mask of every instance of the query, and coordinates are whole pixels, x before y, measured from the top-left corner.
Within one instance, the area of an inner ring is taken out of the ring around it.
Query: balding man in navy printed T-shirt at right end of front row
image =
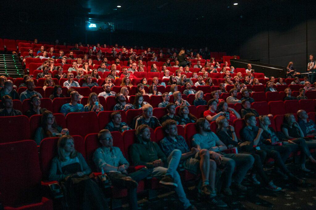
[[[316,125],[311,119],[308,119],[308,115],[305,110],[299,110],[296,112],[298,118],[298,125],[304,133],[304,136],[316,136]]]

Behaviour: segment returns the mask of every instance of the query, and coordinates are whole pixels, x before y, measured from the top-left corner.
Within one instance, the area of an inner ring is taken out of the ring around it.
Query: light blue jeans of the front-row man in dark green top
[[[183,203],[184,208],[188,208],[189,206],[191,206],[191,203],[185,196],[185,192],[182,187],[180,175],[177,172],[177,167],[179,165],[181,155],[182,153],[180,150],[173,150],[167,158],[168,168],[155,167],[152,172],[152,175],[154,177],[161,177],[164,175],[172,176],[174,183],[178,185],[175,191],[179,196],[179,200]]]

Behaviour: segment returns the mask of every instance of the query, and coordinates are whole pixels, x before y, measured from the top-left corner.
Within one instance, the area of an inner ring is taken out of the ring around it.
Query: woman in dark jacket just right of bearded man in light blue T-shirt
[[[232,149],[234,147],[238,148],[238,153],[241,154],[250,154],[254,157],[255,161],[253,163],[253,169],[250,173],[250,180],[253,184],[260,184],[260,182],[256,178],[256,174],[254,173],[254,170],[259,174],[262,181],[266,185],[266,189],[272,190],[272,191],[280,191],[282,190],[281,187],[277,187],[273,184],[272,181],[269,180],[267,177],[267,174],[264,172],[263,164],[264,160],[261,160],[260,156],[255,153],[256,150],[252,151],[245,151],[242,147],[239,147],[238,142],[239,139],[236,136],[235,128],[231,125],[229,125],[226,117],[219,116],[216,119],[216,125],[217,125],[217,136],[218,138],[227,146],[228,149]]]

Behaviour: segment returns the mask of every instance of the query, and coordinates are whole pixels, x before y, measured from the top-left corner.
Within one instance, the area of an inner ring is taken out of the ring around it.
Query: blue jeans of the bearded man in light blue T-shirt
[[[235,167],[234,181],[240,184],[254,161],[253,156],[249,154],[225,154],[222,162],[225,164],[226,187],[230,187],[232,183],[232,175]]]

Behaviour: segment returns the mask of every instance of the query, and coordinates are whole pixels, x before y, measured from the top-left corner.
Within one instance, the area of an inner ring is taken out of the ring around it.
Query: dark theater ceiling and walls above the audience
[[[59,43],[204,48],[306,70],[316,54],[313,1],[3,1],[0,37]],[[233,3],[239,3],[234,6]],[[121,8],[117,8],[121,5]],[[116,31],[86,31],[86,20]]]

